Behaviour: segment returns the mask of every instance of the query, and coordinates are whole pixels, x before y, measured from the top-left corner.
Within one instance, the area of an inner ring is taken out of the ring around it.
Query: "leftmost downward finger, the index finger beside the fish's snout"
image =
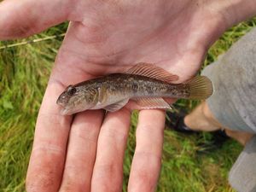
[[[38,113],[34,143],[26,177],[27,191],[57,191],[65,161],[71,116],[60,115],[55,104],[63,87],[49,84]]]

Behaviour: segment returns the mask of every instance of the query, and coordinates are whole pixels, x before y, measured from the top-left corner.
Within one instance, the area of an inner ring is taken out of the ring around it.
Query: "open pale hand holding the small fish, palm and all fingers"
[[[72,20],[38,114],[27,191],[121,191],[131,110],[62,116],[55,104],[61,91],[141,61],[155,63],[183,82],[201,67],[208,47],[228,27],[253,16],[255,9],[254,0],[0,3],[0,39],[28,37]],[[129,191],[154,191],[164,126],[164,111],[140,111]]]

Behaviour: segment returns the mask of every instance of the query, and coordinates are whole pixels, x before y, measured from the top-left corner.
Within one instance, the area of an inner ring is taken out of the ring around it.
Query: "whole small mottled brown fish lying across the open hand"
[[[150,63],[138,63],[125,73],[111,73],[67,86],[56,103],[61,114],[71,115],[89,109],[115,112],[130,100],[140,109],[168,109],[166,98],[207,99],[212,95],[212,81],[196,76],[175,84],[178,76]]]

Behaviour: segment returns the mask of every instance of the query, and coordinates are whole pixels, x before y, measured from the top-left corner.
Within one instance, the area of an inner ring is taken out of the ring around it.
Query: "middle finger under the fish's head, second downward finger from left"
[[[90,191],[102,111],[85,111],[73,120],[60,191]]]

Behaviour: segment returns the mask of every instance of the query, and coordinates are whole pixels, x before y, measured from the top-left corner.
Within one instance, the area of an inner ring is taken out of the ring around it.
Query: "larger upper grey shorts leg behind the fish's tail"
[[[214,84],[207,104],[215,118],[230,129],[256,133],[256,29],[202,74]]]

